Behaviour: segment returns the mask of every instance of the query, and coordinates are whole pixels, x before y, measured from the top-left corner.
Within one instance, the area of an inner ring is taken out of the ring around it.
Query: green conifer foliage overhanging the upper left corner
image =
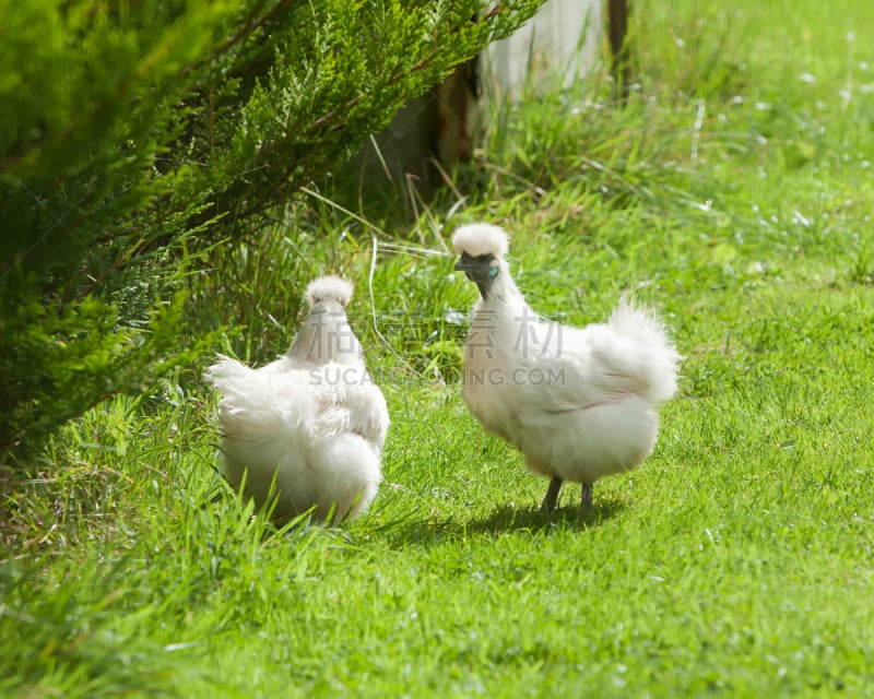
[[[541,1],[0,0],[0,464],[190,359],[191,249]]]

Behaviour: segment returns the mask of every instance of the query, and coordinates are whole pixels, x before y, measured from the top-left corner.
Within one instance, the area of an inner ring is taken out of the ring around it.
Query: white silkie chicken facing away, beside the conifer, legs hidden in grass
[[[221,357],[208,371],[223,393],[222,472],[236,487],[245,479],[259,507],[274,486],[280,521],[310,508],[319,521],[354,518],[382,477],[389,414],[346,320],[351,298],[345,280],[315,280],[309,317],[285,355],[260,369]]]

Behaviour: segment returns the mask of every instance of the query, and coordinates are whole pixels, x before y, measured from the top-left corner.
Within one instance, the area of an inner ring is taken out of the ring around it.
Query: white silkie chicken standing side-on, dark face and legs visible
[[[498,226],[462,226],[452,244],[456,270],[481,295],[464,344],[468,406],[551,476],[542,509],[556,506],[564,481],[581,483],[581,507],[591,507],[598,478],[652,451],[654,407],[676,391],[680,355],[659,319],[626,299],[604,324],[540,320],[510,276],[509,240]]]

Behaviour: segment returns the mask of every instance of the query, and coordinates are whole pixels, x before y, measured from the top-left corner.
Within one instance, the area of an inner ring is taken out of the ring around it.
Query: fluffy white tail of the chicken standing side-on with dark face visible
[[[626,294],[610,317],[610,327],[637,345],[640,371],[648,383],[647,400],[656,404],[676,393],[677,365],[683,357],[658,315],[637,306]]]

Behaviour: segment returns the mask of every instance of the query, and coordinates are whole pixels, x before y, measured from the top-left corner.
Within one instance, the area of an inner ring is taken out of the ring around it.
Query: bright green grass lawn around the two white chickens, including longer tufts
[[[356,281],[380,494],[340,529],[252,517],[214,473],[211,357],[107,402],[7,495],[0,692],[870,696],[874,5],[724,7],[635,4],[624,110],[599,76],[494,107],[462,205],[399,225],[310,198],[213,250],[180,341],[226,324],[216,352],[252,362],[312,275]],[[474,220],[511,230],[536,310],[581,324],[638,288],[686,356],[656,452],[589,514],[576,488],[536,511],[545,481],[461,400],[475,289],[397,248]]]

